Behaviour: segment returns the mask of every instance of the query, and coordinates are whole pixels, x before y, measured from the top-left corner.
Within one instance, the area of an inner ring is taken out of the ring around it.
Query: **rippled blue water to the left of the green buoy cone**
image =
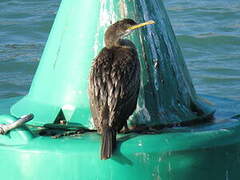
[[[0,99],[25,95],[60,0],[0,0]]]

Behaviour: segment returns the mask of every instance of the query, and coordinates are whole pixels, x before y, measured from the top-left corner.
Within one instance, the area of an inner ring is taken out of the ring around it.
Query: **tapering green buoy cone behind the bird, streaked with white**
[[[88,75],[92,60],[104,46],[110,22],[124,17],[153,19],[130,37],[138,48],[142,83],[132,123],[169,124],[213,111],[196,96],[180,48],[159,0],[63,0],[29,94],[15,104],[15,116],[33,113],[33,124],[51,123],[60,109],[68,122],[91,127]]]

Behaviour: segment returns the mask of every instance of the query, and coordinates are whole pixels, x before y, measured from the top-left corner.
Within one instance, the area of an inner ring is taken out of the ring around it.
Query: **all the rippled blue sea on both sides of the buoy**
[[[25,95],[60,0],[0,0],[0,99]],[[197,93],[240,100],[240,1],[164,0]]]

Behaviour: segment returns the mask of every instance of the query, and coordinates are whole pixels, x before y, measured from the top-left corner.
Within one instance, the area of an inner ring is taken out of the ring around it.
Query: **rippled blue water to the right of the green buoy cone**
[[[240,100],[240,1],[164,3],[197,92]]]

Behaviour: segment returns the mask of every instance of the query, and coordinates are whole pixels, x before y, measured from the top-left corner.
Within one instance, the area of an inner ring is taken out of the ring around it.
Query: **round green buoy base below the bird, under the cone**
[[[169,129],[158,135],[121,135],[114,156],[105,161],[99,158],[96,133],[53,139],[35,136],[31,130],[16,129],[0,136],[2,179],[239,178],[239,120]]]

